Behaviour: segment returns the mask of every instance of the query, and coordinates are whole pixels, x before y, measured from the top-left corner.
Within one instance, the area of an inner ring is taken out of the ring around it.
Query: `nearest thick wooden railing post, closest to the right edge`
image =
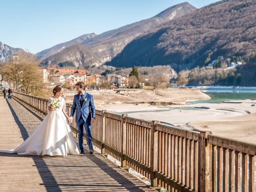
[[[200,132],[198,144],[198,191],[200,192],[210,191],[210,144],[206,141],[208,134],[210,132]]]

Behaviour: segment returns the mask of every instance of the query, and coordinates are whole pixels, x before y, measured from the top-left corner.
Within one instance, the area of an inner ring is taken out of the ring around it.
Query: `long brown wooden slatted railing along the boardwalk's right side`
[[[13,93],[37,112],[47,100]],[[70,112],[72,105],[66,104]],[[74,117],[75,118],[75,117]],[[76,123],[70,124],[77,132]],[[96,110],[94,146],[169,191],[255,192],[256,145]],[[86,140],[86,135],[84,134]]]

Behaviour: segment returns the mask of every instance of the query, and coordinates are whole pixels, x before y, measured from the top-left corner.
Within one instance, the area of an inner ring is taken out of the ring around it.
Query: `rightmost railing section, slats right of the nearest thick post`
[[[220,136],[208,135],[211,170],[210,191],[250,191],[255,189],[256,145]]]

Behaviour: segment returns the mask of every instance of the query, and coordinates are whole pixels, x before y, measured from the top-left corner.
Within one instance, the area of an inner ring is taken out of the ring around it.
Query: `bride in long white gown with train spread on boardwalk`
[[[49,107],[49,113],[44,120],[20,146],[13,150],[0,150],[0,153],[38,156],[79,154],[75,138],[66,120],[66,117],[69,116],[66,110],[66,102],[62,97],[63,87],[57,85],[52,92],[54,96],[50,99],[58,99],[60,101],[59,108],[52,109]]]

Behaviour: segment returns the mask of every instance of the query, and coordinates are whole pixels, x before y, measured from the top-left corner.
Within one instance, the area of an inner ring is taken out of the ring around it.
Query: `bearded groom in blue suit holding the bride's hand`
[[[76,125],[78,128],[78,142],[80,154],[84,154],[84,127],[86,132],[86,140],[89,146],[90,154],[93,153],[91,123],[95,121],[95,107],[91,94],[85,92],[85,84],[82,81],[76,83],[78,94],[74,96],[73,105],[69,117],[69,122],[73,122],[73,116],[76,110]],[[91,111],[90,111],[91,109]]]

